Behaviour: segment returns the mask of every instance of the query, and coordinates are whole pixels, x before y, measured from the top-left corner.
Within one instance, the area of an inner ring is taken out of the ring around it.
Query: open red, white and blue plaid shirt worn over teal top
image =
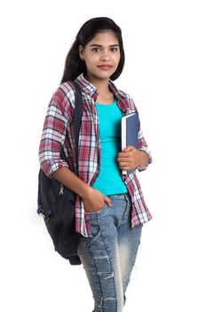
[[[76,78],[83,93],[83,118],[79,135],[79,177],[88,185],[93,185],[100,173],[100,128],[96,110],[98,92],[82,75]],[[137,111],[132,97],[109,81],[109,89],[116,96],[117,105],[123,115]],[[75,132],[74,132],[75,89],[70,82],[60,85],[52,95],[39,147],[39,161],[45,174],[51,177],[57,169],[66,166],[75,171]],[[60,148],[63,146],[68,163],[60,158]],[[148,145],[141,133],[138,134],[138,148],[148,152]],[[150,153],[148,152],[149,156]],[[149,163],[151,162],[151,156]],[[148,222],[152,217],[140,189],[140,182],[133,170],[124,176],[124,183],[132,198],[132,227]],[[84,236],[91,235],[89,215],[84,211],[82,199],[76,197],[76,232]]]

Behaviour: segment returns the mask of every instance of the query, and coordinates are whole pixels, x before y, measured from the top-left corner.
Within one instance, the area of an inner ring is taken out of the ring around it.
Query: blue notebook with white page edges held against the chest
[[[126,146],[132,145],[138,148],[139,114],[133,112],[121,119],[121,143],[122,151]],[[124,175],[131,171],[122,170]]]

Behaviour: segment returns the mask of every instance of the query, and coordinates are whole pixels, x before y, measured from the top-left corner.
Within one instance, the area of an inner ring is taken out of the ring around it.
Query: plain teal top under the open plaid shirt
[[[96,103],[100,119],[101,160],[100,175],[93,188],[105,195],[127,193],[128,190],[121,176],[117,163],[117,153],[121,152],[122,112],[116,104]]]

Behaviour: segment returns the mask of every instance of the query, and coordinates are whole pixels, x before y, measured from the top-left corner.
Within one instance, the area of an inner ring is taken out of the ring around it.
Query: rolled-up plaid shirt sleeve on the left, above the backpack
[[[68,167],[68,163],[60,158],[60,150],[65,142],[68,113],[63,104],[64,95],[58,89],[52,95],[44,119],[44,128],[39,145],[39,162],[47,177],[61,167]]]

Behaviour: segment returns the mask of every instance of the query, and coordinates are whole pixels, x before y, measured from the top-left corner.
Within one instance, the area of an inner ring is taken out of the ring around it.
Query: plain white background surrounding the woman
[[[140,182],[143,228],[124,311],[207,312],[208,10],[202,0],[6,1],[1,31],[1,311],[92,311],[82,267],[53,251],[36,217],[44,114],[84,21],[113,18],[154,158]],[[4,307],[4,308],[2,308]]]

